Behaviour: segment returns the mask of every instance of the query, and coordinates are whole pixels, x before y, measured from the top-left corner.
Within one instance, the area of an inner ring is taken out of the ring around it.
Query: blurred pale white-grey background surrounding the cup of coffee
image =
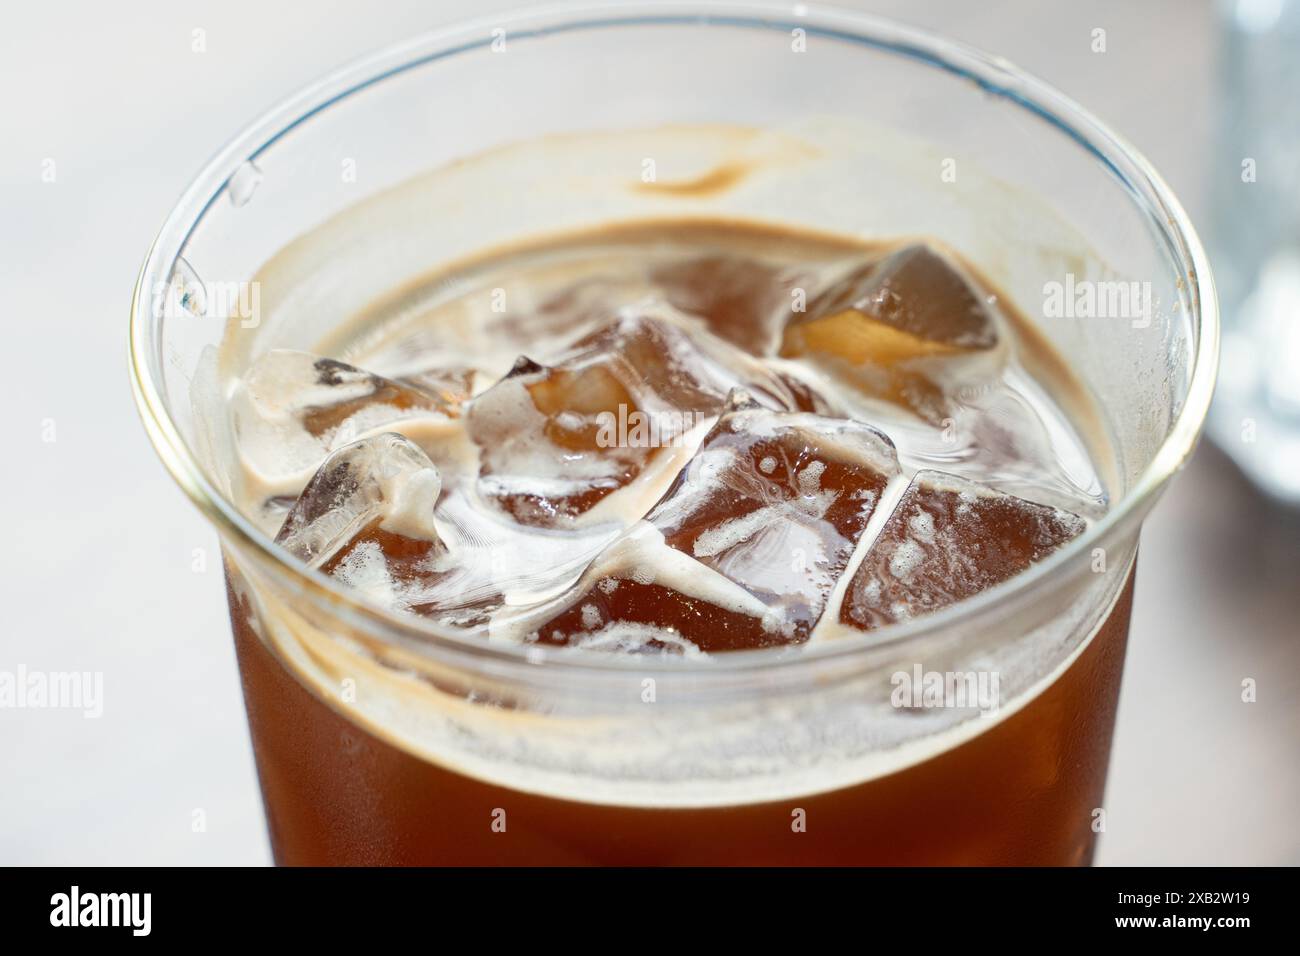
[[[98,721],[0,710],[0,864],[269,861],[216,536],[129,394],[131,284],[188,178],[246,121],[344,60],[515,5],[6,8],[0,670],[103,671],[105,701]],[[842,5],[1043,75],[1122,130],[1204,219],[1218,174],[1209,3]],[[1097,26],[1104,55],[1089,48]],[[205,52],[191,49],[195,29]],[[1296,527],[1210,447],[1149,522],[1098,862],[1300,862]],[[1260,682],[1254,705],[1239,698],[1245,676]],[[191,830],[195,809],[205,832]]]

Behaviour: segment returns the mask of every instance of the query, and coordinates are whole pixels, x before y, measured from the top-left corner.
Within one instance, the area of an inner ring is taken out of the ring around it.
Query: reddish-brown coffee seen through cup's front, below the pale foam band
[[[702,809],[547,799],[413,757],[304,689],[230,601],[281,865],[1050,866],[1092,860],[1132,576],[1069,670],[972,740],[857,787]],[[792,830],[796,808],[805,832]]]

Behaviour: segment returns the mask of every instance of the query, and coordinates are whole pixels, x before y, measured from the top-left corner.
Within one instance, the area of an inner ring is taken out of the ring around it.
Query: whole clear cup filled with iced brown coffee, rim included
[[[1000,57],[718,13],[410,38],[164,220],[133,386],[278,862],[1105,839],[1138,535],[1214,384],[1195,230]]]

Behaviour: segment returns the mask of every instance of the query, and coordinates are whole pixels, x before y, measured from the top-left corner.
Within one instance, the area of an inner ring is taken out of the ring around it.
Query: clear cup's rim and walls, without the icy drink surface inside
[[[647,161],[668,181],[757,172],[628,189]],[[282,553],[234,506],[192,406],[224,337],[237,364],[309,350],[430,268],[656,216],[942,239],[1093,393],[1108,512],[935,614],[692,662],[439,632]],[[1135,297],[1061,307],[1087,284]],[[199,174],[131,315],[144,424],[221,537],[282,864],[1087,862],[1139,529],[1196,442],[1217,347],[1186,215],[1086,111],[930,34],[754,4],[552,8],[343,68]],[[916,667],[997,674],[1001,705],[894,706],[893,675]]]

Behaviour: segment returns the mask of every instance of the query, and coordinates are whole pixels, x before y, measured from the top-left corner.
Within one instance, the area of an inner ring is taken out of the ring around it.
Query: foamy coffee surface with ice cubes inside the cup
[[[485,640],[798,645],[1023,571],[1105,510],[1087,393],[937,242],[645,222],[398,290],[228,395],[244,510]]]

